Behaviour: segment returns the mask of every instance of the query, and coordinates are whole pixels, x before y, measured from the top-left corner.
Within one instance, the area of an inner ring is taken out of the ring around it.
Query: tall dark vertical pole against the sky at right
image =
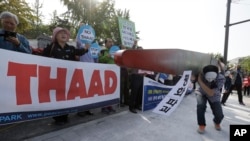
[[[230,22],[230,9],[231,9],[231,0],[227,1],[227,17],[226,17],[226,32],[225,32],[225,46],[224,46],[224,61],[227,64],[227,52],[228,52],[228,37],[229,37],[229,22]]]

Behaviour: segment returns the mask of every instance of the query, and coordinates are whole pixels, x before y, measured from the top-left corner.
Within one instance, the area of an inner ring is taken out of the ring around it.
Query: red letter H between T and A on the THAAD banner
[[[67,69],[57,68],[57,78],[50,78],[50,67],[39,66],[38,97],[39,102],[50,102],[50,90],[56,90],[56,101],[64,101]]]

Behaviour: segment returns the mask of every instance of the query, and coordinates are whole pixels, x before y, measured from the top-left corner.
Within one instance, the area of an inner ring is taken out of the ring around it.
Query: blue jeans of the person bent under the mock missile
[[[214,118],[213,121],[215,124],[220,124],[224,118],[222,107],[220,101],[210,102],[205,95],[196,93],[197,99],[197,121],[198,125],[206,126],[205,112],[207,108],[207,101],[210,105],[210,108],[213,112]]]

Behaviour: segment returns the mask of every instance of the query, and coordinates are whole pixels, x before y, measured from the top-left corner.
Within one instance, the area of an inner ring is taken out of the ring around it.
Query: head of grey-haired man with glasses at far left
[[[3,29],[6,31],[14,32],[16,30],[17,25],[19,24],[17,16],[8,11],[4,11],[0,14],[0,20]]]

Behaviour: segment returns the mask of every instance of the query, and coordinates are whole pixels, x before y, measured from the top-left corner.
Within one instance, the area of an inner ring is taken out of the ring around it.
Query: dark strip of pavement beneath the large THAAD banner
[[[116,108],[117,112],[110,115],[117,114],[128,109],[128,107],[114,107]],[[91,112],[94,113],[93,116],[86,115],[84,117],[79,117],[76,115],[76,113],[69,114],[69,123],[63,126],[54,125],[54,120],[52,119],[52,117],[9,125],[2,125],[0,126],[0,141],[22,141],[27,138],[59,131],[64,128],[87,123],[89,121],[97,120],[107,116],[106,114],[101,113],[100,108],[93,109],[91,110]]]

